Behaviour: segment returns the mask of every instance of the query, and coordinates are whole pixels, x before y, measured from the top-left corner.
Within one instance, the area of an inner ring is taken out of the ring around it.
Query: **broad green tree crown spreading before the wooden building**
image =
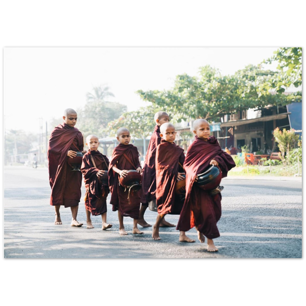
[[[196,118],[212,121],[238,110],[291,102],[291,96],[281,94],[259,96],[258,82],[269,73],[250,65],[234,75],[222,76],[218,69],[205,66],[200,68],[200,77],[178,75],[171,90],[137,92],[154,107],[169,110],[174,122]]]

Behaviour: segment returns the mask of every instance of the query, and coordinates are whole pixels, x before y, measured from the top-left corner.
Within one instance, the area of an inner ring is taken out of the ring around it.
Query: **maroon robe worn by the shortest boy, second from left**
[[[95,166],[91,161],[92,156]],[[104,162],[104,159],[105,162]],[[91,212],[91,215],[102,215],[107,211],[106,198],[110,192],[108,186],[101,185],[97,177],[99,170],[108,170],[108,158],[99,151],[88,150],[83,156],[81,171],[84,175],[86,188],[85,208]]]

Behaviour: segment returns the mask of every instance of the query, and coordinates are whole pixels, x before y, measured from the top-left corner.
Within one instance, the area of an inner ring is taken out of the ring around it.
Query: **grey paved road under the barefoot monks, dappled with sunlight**
[[[101,230],[101,217],[93,217],[94,229],[86,229],[84,203],[79,206],[81,228],[71,227],[71,213],[61,208],[63,225],[54,226],[49,205],[50,186],[46,168],[4,168],[5,258],[301,258],[302,189],[297,181],[222,180],[221,237],[219,251],[209,253],[206,244],[179,243],[175,228],[161,228],[162,240],[151,239],[151,228],[132,235],[132,219],[124,218],[128,236],[119,236],[117,212],[108,205],[113,228]],[[84,197],[82,187],[82,198]],[[109,203],[109,202],[108,202]],[[156,213],[147,210],[154,223]],[[176,223],[178,216],[167,216]],[[196,230],[188,232],[196,239]]]

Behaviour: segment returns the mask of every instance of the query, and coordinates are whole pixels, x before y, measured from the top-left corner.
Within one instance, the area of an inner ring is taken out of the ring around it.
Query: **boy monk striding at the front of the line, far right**
[[[209,191],[199,188],[195,182],[209,165],[219,166],[222,177],[235,167],[232,157],[224,152],[217,139],[210,137],[209,124],[197,119],[193,124],[195,141],[188,147],[184,162],[186,172],[186,199],[177,224],[177,230],[188,231],[193,226],[198,231],[200,242],[207,237],[207,251],[215,252],[214,238],[220,236],[217,222],[221,217],[221,193],[212,196]]]

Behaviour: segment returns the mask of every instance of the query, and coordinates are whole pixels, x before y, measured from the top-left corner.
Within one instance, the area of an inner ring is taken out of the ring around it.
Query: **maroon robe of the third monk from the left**
[[[138,219],[141,190],[131,190],[129,194],[129,190],[125,190],[125,188],[119,184],[118,173],[112,170],[113,166],[116,166],[120,170],[136,170],[124,157],[123,153],[125,153],[134,163],[136,169],[140,167],[138,151],[135,146],[132,144],[118,144],[118,146],[114,148],[108,171],[108,181],[110,192],[112,193],[110,204],[113,205],[113,211],[118,210],[122,216]]]

